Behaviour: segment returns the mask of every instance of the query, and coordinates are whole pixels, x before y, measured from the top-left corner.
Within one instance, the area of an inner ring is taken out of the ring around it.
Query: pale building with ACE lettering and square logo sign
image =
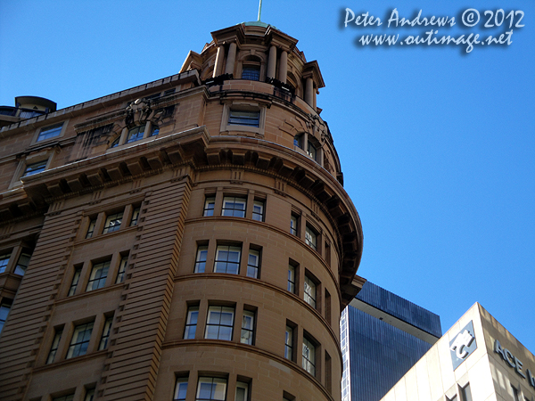
[[[382,401],[535,401],[535,356],[475,303]]]

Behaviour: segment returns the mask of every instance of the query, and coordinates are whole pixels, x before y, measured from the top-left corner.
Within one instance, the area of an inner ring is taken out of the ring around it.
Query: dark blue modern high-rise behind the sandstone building
[[[366,282],[342,312],[342,401],[377,401],[440,339],[440,317]]]

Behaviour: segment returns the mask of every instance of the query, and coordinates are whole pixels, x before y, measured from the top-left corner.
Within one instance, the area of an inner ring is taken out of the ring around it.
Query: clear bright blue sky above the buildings
[[[382,25],[344,28],[346,7]],[[389,28],[394,8],[399,20],[422,10],[456,25]],[[468,8],[480,12],[473,28],[462,23]],[[484,27],[487,10],[498,28]],[[30,94],[65,108],[168,77],[211,31],[257,13],[257,0],[0,0],[0,104]],[[443,331],[479,301],[531,352],[534,16],[532,0],[264,0],[262,10],[322,71],[317,104],[364,230],[358,274],[440,315]],[[357,45],[362,35],[427,37],[430,29],[438,38],[503,33],[512,43],[471,53],[466,45]]]

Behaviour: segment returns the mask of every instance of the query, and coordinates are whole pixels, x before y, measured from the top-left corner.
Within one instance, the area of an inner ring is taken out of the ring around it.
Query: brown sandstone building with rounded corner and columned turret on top
[[[1,400],[341,399],[362,230],[323,78],[261,22],[212,37],[172,77],[0,108]]]

